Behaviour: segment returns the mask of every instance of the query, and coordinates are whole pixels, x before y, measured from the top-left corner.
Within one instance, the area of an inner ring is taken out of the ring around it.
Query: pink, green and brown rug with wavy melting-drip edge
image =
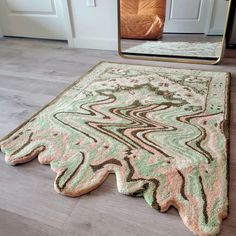
[[[50,164],[59,193],[115,173],[120,193],[174,206],[195,234],[215,235],[228,209],[228,84],[223,72],[103,62],[0,147],[10,165]]]

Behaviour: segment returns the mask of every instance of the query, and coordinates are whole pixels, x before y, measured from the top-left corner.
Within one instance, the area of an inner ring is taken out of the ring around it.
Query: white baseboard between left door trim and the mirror
[[[69,45],[74,48],[118,50],[118,40],[104,38],[74,38]]]

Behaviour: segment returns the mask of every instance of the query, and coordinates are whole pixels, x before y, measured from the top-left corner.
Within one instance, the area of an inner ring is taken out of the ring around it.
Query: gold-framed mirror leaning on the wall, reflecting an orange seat
[[[118,0],[123,57],[216,64],[231,1]]]

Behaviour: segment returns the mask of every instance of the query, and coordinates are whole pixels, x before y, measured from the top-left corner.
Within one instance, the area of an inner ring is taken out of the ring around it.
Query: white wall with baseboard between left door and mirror
[[[72,46],[117,50],[117,0],[96,0],[87,7],[86,0],[69,0],[72,22]]]

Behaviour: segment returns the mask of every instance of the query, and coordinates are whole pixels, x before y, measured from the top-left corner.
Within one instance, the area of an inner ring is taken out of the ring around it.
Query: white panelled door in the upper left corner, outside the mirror
[[[0,0],[5,36],[66,40],[61,0]]]

